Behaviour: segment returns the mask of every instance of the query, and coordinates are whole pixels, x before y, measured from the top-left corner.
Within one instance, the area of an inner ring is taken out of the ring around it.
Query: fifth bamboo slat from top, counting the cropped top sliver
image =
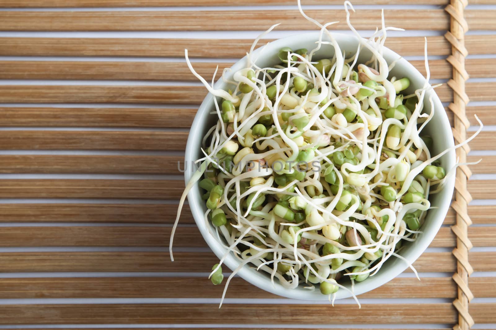
[[[472,101],[493,101],[496,83],[467,83]],[[443,102],[451,101],[447,84],[437,87]],[[206,95],[199,85],[2,85],[0,103],[151,103],[199,104]]]

